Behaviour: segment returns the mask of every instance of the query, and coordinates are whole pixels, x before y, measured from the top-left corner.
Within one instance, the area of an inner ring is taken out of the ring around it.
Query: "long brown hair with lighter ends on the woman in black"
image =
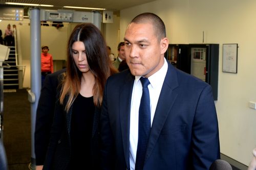
[[[77,25],[72,31],[68,41],[67,71],[66,75],[63,77],[59,99],[60,104],[63,104],[65,101],[65,110],[67,112],[81,88],[82,73],[76,67],[72,57],[72,45],[76,41],[84,43],[87,61],[95,77],[95,84],[93,86],[93,102],[95,106],[100,107],[102,104],[103,88],[106,79],[117,72],[108,56],[106,43],[100,30],[92,23]]]

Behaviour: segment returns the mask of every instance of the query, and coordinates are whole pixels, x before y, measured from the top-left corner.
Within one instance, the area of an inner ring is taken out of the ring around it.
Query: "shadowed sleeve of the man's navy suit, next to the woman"
[[[103,102],[100,115],[100,132],[101,132],[101,148],[100,160],[101,168],[104,170],[114,169],[114,138],[110,126],[110,119],[108,113],[108,81],[105,84],[103,93]]]

